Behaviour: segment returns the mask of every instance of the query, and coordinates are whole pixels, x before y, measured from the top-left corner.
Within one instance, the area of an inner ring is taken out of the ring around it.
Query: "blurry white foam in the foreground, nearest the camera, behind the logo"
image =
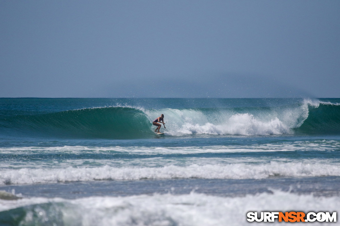
[[[191,192],[185,195],[87,197],[76,200],[60,198],[0,200],[0,211],[23,207],[26,214],[20,222],[22,225],[40,222],[42,225],[55,223],[84,226],[220,226],[258,225],[258,223],[246,221],[246,213],[249,211],[334,212],[339,209],[339,203],[340,197],[338,196],[314,197],[282,191],[243,197],[221,197]],[[33,205],[34,208],[32,208]],[[284,222],[278,222],[277,219],[273,223],[264,223],[264,225],[268,224],[286,225]],[[320,224],[313,222],[304,225]]]

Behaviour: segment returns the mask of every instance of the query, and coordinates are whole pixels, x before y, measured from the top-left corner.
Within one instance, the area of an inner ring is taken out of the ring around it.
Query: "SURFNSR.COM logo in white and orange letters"
[[[337,212],[248,212],[247,221],[253,222],[337,222]]]

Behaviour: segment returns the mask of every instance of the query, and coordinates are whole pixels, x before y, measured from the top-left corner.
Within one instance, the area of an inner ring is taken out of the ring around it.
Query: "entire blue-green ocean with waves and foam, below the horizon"
[[[258,225],[339,184],[340,99],[0,98],[0,225]]]

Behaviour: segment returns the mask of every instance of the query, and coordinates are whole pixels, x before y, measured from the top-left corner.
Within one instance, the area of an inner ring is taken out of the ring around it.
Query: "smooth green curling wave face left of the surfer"
[[[18,115],[8,119],[5,127],[29,134],[71,138],[131,139],[153,134],[143,112],[123,107]]]

